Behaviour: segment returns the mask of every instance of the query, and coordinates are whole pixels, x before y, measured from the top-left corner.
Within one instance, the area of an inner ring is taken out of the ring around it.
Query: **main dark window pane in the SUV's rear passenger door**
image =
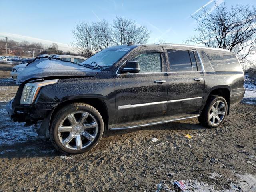
[[[188,51],[167,50],[171,71],[192,71]]]

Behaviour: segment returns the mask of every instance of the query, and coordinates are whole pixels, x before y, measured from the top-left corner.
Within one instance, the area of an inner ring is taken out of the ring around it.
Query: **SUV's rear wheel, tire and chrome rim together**
[[[216,128],[224,122],[227,111],[228,104],[223,97],[218,95],[210,96],[198,117],[198,121],[207,128]]]

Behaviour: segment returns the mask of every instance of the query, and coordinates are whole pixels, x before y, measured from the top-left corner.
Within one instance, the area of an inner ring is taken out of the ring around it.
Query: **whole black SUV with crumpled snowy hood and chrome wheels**
[[[114,46],[82,64],[36,58],[17,82],[9,116],[41,122],[38,132],[64,154],[92,149],[104,129],[196,117],[216,128],[245,91],[234,53],[176,44]]]

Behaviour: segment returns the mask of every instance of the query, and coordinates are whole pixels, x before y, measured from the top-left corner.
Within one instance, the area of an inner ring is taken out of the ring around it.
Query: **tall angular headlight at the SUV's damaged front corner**
[[[23,88],[23,92],[20,98],[20,104],[32,104],[36,99],[36,96],[41,87],[55,84],[58,82],[58,79],[45,80],[41,82],[27,83]]]

